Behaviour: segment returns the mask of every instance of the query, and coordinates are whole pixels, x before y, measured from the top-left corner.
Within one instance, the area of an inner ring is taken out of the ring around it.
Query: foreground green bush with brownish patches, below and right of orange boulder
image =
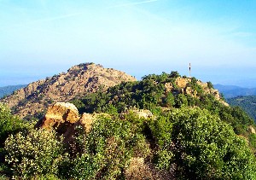
[[[132,117],[133,123],[129,117]],[[102,115],[87,136],[79,134],[76,147],[80,151],[72,160],[67,160],[66,165],[73,166],[73,169],[68,174],[62,171],[62,176],[74,179],[122,177],[122,171],[132,155],[147,151],[140,120],[132,113],[126,114],[126,118],[112,119]]]

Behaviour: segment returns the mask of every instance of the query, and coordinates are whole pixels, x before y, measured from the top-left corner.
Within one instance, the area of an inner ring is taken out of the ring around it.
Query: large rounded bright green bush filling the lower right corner
[[[246,142],[229,125],[199,108],[181,108],[170,113],[171,163],[185,179],[254,179],[255,159]]]

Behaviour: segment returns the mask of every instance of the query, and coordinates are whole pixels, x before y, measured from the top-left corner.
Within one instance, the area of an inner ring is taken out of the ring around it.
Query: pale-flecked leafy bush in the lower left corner
[[[32,130],[19,132],[5,142],[6,162],[15,178],[45,177],[58,174],[62,138],[55,131]]]

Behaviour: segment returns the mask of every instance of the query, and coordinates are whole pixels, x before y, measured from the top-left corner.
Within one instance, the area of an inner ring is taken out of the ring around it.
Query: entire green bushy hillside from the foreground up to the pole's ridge
[[[98,115],[70,143],[1,105],[2,177],[256,179],[253,119],[217,94],[210,82],[177,72],[99,90],[73,100],[79,113]],[[147,117],[137,113],[148,110]]]

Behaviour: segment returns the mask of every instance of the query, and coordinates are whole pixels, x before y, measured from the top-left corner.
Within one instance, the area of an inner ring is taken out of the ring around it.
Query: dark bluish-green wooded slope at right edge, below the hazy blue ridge
[[[231,106],[241,107],[256,121],[256,96],[236,96],[226,101]]]

